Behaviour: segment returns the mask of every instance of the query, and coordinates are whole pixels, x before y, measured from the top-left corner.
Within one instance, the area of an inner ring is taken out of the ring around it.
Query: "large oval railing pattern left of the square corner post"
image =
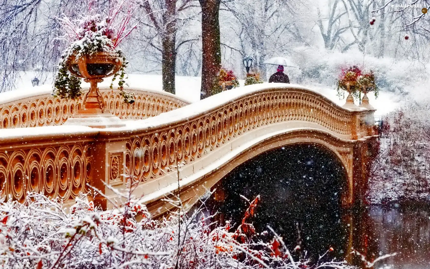
[[[23,201],[27,191],[73,199],[91,179],[88,143],[0,152],[2,196]]]

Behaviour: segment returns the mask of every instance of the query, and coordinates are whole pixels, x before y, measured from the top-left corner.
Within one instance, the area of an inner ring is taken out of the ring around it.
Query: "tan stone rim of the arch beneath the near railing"
[[[218,169],[212,170],[202,178],[184,186],[181,189],[181,200],[187,204],[187,207],[192,206],[206,191],[215,186],[236,167],[261,153],[289,145],[316,145],[329,152],[333,158],[339,161],[345,174],[346,180],[341,182],[342,206],[350,207],[356,199],[361,198],[359,197],[361,193],[358,193],[360,186],[358,183],[355,184],[359,179],[354,176],[353,169],[354,144],[347,140],[338,139],[327,132],[313,129],[296,129],[273,134],[270,138],[262,138],[249,148],[239,151],[232,158],[224,160],[224,164],[220,164]],[[155,216],[172,209],[172,207],[160,200],[148,203],[147,207]]]

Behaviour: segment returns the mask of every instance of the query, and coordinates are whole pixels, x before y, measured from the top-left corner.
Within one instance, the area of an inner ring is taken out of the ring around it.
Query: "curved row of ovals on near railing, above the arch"
[[[316,123],[339,135],[350,135],[353,113],[315,93],[278,90],[248,96],[200,117],[151,130],[126,142],[126,166],[142,179],[188,164],[223,143],[258,127],[283,121]]]

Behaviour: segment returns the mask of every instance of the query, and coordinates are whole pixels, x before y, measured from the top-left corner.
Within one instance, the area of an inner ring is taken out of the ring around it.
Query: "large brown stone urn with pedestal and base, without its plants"
[[[83,105],[77,114],[66,121],[66,124],[85,125],[95,128],[125,126],[119,117],[105,111],[103,96],[97,84],[120,70],[123,62],[116,53],[98,52],[91,56],[71,55],[68,61],[69,71],[77,77],[84,78],[90,84],[89,91],[83,96]]]

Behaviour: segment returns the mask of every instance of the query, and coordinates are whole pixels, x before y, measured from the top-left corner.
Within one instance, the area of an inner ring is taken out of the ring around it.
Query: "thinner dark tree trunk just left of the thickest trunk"
[[[161,70],[163,74],[163,91],[175,94],[176,69],[176,0],[166,0],[166,11],[163,13],[165,31],[163,32],[163,53]]]

